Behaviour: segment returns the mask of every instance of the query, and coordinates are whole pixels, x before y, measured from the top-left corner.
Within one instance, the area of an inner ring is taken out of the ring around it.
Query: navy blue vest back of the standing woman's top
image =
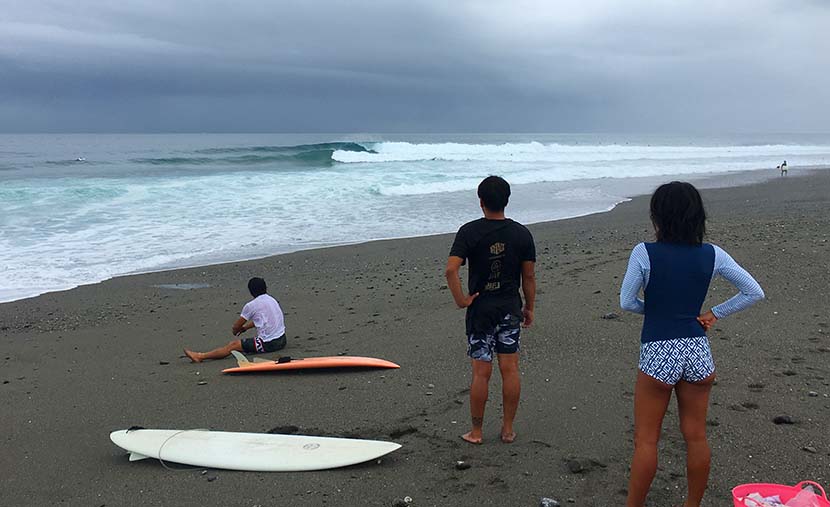
[[[646,243],[651,269],[645,290],[643,343],[706,336],[697,321],[715,269],[715,249],[678,243]]]

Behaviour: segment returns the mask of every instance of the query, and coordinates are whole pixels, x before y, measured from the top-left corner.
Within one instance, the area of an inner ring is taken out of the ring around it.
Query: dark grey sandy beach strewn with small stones
[[[707,506],[731,505],[731,488],[747,482],[830,486],[830,171],[798,172],[703,191],[707,239],[767,295],[710,333],[718,382]],[[120,277],[0,304],[0,505],[389,506],[405,496],[414,507],[534,506],[541,497],[618,505],[641,325],[621,312],[618,291],[630,249],[652,238],[647,209],[638,197],[530,227],[539,291],[536,322],[522,337],[512,445],[498,440],[497,375],[485,445],[459,438],[470,367],[463,311],[444,280],[451,235]],[[266,279],[286,312],[282,354],[374,356],[401,369],[227,376],[220,371],[230,358],[190,363],[183,347],[231,338],[252,276]],[[708,303],[733,291],[718,281]],[[774,424],[781,415],[795,424]],[[133,425],[294,426],[403,448],[321,472],[173,471],[156,460],[130,463],[109,441],[110,431]],[[470,468],[457,470],[459,460]],[[679,504],[684,475],[672,407],[649,505]]]

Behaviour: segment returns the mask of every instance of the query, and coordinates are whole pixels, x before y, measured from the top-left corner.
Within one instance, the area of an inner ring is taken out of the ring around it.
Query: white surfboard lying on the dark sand
[[[377,459],[401,447],[379,440],[206,430],[119,430],[110,433],[110,440],[130,452],[130,461],[156,458],[251,472],[338,468]]]

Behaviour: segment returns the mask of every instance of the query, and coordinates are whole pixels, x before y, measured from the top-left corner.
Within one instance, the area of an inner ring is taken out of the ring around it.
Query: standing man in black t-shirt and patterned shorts
[[[504,179],[485,178],[478,186],[478,197],[484,217],[458,230],[446,269],[455,304],[467,309],[467,355],[473,367],[472,429],[461,438],[473,444],[482,442],[484,406],[497,355],[504,406],[501,440],[511,443],[516,438],[513,419],[521,391],[520,324],[528,327],[533,323],[536,300],[536,246],[525,226],[504,216],[510,198],[510,185]],[[467,261],[469,293],[464,294],[458,272]],[[524,305],[519,288],[524,293]]]

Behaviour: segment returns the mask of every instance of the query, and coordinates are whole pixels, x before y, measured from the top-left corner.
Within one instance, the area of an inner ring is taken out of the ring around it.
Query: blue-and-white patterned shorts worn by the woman
[[[669,385],[700,382],[715,372],[709,340],[698,336],[643,343],[640,371]]]

